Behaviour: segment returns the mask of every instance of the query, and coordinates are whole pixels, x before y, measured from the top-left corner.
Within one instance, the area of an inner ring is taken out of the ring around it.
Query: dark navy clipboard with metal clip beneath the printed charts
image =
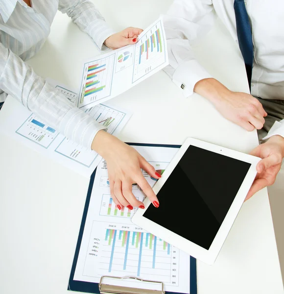
[[[145,146],[145,147],[171,147],[171,148],[180,148],[180,145],[159,145],[159,144],[142,144],[142,143],[126,143],[131,146]],[[83,232],[85,228],[85,223],[86,223],[86,218],[87,218],[87,213],[89,209],[89,204],[90,204],[90,199],[91,199],[91,194],[93,190],[93,185],[94,185],[94,180],[95,180],[95,171],[92,173],[91,178],[90,178],[90,184],[88,188],[88,193],[87,193],[87,198],[86,198],[86,203],[84,207],[84,212],[83,212],[83,217],[82,217],[82,222],[79,230],[79,236],[78,236],[78,241],[75,249],[75,254],[74,254],[74,259],[71,267],[71,274],[69,278],[69,283],[68,283],[68,290],[69,291],[76,291],[76,292],[84,292],[84,293],[93,293],[93,294],[179,294],[177,292],[165,292],[164,290],[164,283],[161,281],[148,281],[148,280],[143,280],[137,277],[115,277],[115,276],[106,276],[103,275],[100,278],[99,283],[91,283],[91,282],[83,282],[83,281],[76,281],[73,280],[74,278],[74,273],[78,261],[78,255],[80,251],[80,246],[82,242],[82,237],[83,237]],[[190,256],[189,259],[190,262],[190,289],[189,292],[190,294],[197,294],[197,274],[196,274],[196,259]],[[161,290],[147,290],[147,289],[140,289],[140,288],[130,288],[130,287],[123,287],[123,286],[115,286],[106,283],[105,281],[108,279],[121,279],[121,280],[126,280],[126,279],[135,279],[139,280],[141,282],[150,282],[153,284],[159,285]]]

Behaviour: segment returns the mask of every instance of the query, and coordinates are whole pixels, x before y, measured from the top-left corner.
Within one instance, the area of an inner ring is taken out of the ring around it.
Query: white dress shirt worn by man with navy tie
[[[251,94],[284,100],[284,0],[245,0],[245,5],[254,43]],[[164,16],[169,54],[165,70],[179,87],[185,85],[186,97],[196,82],[212,77],[194,58],[190,44],[210,30],[216,15],[238,42],[234,0],[174,0]],[[284,137],[284,120],[263,140],[273,135]]]

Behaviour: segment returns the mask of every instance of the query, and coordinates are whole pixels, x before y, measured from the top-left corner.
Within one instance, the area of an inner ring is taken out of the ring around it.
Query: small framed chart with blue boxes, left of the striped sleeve
[[[58,135],[54,128],[48,126],[34,114],[28,117],[16,133],[45,148],[48,148]]]

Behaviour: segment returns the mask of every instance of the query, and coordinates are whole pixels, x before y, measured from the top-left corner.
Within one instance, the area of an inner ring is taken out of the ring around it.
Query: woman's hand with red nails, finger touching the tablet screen
[[[156,179],[161,176],[133,147],[101,130],[95,136],[92,149],[107,162],[111,196],[119,210],[122,206],[130,210],[133,207],[144,208],[143,203],[132,193],[134,183],[140,186],[155,207],[159,207],[158,198],[144,178],[141,169]]]

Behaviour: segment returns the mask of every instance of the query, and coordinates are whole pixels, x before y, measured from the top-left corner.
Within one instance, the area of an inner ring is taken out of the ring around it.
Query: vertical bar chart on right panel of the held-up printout
[[[136,44],[132,82],[154,70],[166,61],[165,40],[159,21]]]

